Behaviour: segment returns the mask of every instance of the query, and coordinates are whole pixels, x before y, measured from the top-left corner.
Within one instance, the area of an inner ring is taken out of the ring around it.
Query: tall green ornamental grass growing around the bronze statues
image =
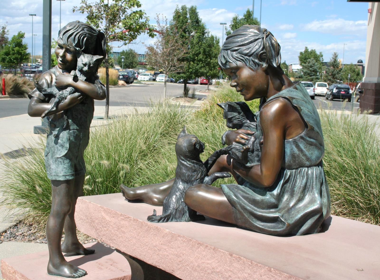
[[[119,192],[128,187],[164,182],[174,177],[177,135],[186,125],[206,144],[201,158],[222,148],[227,130],[223,111],[216,103],[241,101],[242,97],[221,85],[201,108],[191,111],[169,101],[152,103],[144,113],[128,114],[91,129],[85,151],[85,195]],[[248,102],[253,111],[258,100]],[[367,115],[337,114],[320,110],[325,138],[324,168],[331,193],[332,214],[380,225],[380,148],[376,125]],[[27,156],[0,160],[6,170],[0,178],[3,206],[21,209],[17,218],[44,225],[51,206],[51,187],[44,168],[44,145],[24,142]],[[232,178],[214,185],[233,183]]]

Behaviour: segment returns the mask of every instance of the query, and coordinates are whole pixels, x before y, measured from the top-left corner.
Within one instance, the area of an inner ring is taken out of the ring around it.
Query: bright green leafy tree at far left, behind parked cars
[[[16,68],[29,59],[28,45],[22,43],[24,38],[25,33],[19,31],[0,52],[0,64],[6,68],[14,68],[14,74],[17,73]]]

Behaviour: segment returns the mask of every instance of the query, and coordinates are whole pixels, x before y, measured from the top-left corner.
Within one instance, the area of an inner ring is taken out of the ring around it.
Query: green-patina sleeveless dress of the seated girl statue
[[[284,98],[292,104],[304,120],[306,130],[284,141],[282,168],[272,187],[260,188],[238,176],[238,184],[221,185],[222,190],[233,206],[238,226],[277,236],[318,233],[330,215],[319,115],[301,84],[282,90],[268,101],[275,98]],[[260,158],[260,112],[257,119],[253,153]]]

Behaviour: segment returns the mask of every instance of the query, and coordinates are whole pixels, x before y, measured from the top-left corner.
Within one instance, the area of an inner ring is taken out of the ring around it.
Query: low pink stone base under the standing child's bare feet
[[[81,279],[88,280],[130,280],[131,267],[126,258],[114,249],[100,243],[85,244],[95,249],[95,254],[70,256],[65,259],[87,271]],[[59,280],[68,279],[47,274],[49,252],[22,255],[1,260],[1,272],[6,280]]]

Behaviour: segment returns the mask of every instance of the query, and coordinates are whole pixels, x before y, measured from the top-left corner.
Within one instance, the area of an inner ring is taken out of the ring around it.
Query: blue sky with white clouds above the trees
[[[96,0],[89,0],[95,2]],[[73,6],[79,6],[80,0],[62,1],[62,27],[74,20],[86,21],[86,14],[72,12]],[[186,0],[140,0],[150,23],[155,24],[156,14],[172,18],[176,5],[189,5]],[[0,0],[0,25],[7,24],[9,38],[17,32],[25,32],[24,42],[32,51],[33,33],[36,34],[35,54],[42,55],[42,0]],[[252,0],[239,0],[231,5],[230,0],[192,0],[197,6],[199,16],[213,35],[222,41],[221,22],[231,23],[232,17],[242,16]],[[52,0],[52,38],[57,38],[60,24],[60,1]],[[323,53],[323,60],[329,61],[333,52],[338,52],[344,63],[365,62],[368,3],[347,2],[347,0],[262,0],[261,26],[267,28],[277,38],[281,46],[282,61],[298,62],[298,55],[305,46]],[[255,1],[254,16],[260,19],[260,1]],[[226,36],[223,35],[223,40]],[[128,46],[117,47],[114,51],[127,48],[139,54],[145,52],[144,44],[152,39],[141,35]]]

